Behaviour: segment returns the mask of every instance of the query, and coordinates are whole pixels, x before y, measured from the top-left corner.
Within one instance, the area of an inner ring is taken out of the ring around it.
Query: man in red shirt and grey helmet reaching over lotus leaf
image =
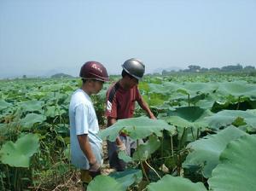
[[[150,119],[155,119],[148,104],[143,100],[137,89],[137,84],[145,72],[142,61],[131,58],[122,65],[122,78],[113,84],[107,91],[107,126],[111,126],[118,119],[129,119],[133,117],[135,101],[148,113]],[[115,142],[108,142],[108,159],[110,167],[117,171],[125,171],[125,162],[118,158],[119,151],[126,151],[131,156],[131,149],[137,148],[136,142],[129,136],[120,134]]]

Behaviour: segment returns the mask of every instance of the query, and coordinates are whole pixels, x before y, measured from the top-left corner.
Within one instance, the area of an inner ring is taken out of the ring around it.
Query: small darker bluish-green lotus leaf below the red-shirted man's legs
[[[138,169],[126,169],[125,171],[115,171],[108,175],[113,177],[117,182],[122,184],[126,190],[134,182],[140,182],[143,179],[143,173]]]

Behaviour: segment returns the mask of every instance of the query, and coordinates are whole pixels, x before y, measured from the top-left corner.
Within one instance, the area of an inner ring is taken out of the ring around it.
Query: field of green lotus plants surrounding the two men
[[[0,81],[0,190],[82,187],[70,163],[68,121],[80,84],[79,78]],[[132,157],[119,153],[126,171],[104,172],[106,154],[103,174],[87,190],[256,190],[256,77],[146,76],[139,90],[157,120],[137,107],[134,118],[105,129],[109,85],[93,96],[100,136],[114,141],[125,131],[144,143]]]

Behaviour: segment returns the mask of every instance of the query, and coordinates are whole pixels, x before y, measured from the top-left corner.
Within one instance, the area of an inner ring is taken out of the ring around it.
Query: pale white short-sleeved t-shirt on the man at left
[[[102,139],[99,132],[98,119],[90,100],[84,90],[76,90],[69,105],[71,162],[80,169],[89,169],[89,162],[81,150],[78,135],[88,134],[90,148],[96,159],[102,154]]]

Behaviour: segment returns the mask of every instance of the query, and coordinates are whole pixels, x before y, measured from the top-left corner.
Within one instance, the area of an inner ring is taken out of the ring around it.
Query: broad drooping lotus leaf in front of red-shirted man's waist
[[[176,133],[175,127],[167,124],[164,120],[139,117],[119,119],[115,124],[102,130],[100,136],[102,139],[108,138],[109,141],[113,142],[121,130],[125,130],[134,140],[145,138],[153,133],[162,136],[161,130],[169,130],[172,135]]]

